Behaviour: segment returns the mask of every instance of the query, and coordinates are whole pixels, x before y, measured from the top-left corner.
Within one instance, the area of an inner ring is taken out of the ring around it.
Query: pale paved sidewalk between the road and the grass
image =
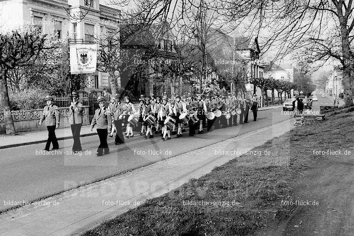
[[[244,153],[286,133],[292,127],[292,121],[288,119],[8,211],[0,215],[0,234],[79,234],[239,156],[236,153],[220,155],[219,150],[237,149]]]

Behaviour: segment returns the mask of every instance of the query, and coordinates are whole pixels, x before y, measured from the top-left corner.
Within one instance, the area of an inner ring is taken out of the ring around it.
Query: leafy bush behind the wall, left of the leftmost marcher
[[[46,106],[47,95],[45,91],[37,88],[11,92],[10,109],[16,111],[43,108]]]

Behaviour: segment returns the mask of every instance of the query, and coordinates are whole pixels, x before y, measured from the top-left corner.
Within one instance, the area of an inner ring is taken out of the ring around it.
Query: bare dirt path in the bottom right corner
[[[348,150],[350,156],[316,160],[301,170],[292,201],[318,205],[296,206],[257,235],[354,235],[354,148]]]

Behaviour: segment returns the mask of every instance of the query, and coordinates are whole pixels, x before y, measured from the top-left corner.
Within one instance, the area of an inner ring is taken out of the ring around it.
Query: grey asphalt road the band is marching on
[[[173,135],[171,140],[163,141],[159,135],[145,139],[138,134],[118,146],[114,145],[114,138],[108,137],[110,154],[102,157],[96,156],[99,144],[97,135],[81,138],[81,155],[70,153],[72,139],[59,141],[60,149],[56,151],[62,152],[61,154],[39,154],[45,144],[3,149],[0,158],[0,211],[13,208],[6,204],[8,201],[31,202],[52,196],[79,185],[267,127],[290,117],[281,111],[282,109],[259,111],[256,122],[250,113],[247,124],[196,134],[194,137],[188,137],[188,133],[184,133],[184,137],[174,138]],[[264,133],[264,138],[268,139],[267,137],[268,134]]]

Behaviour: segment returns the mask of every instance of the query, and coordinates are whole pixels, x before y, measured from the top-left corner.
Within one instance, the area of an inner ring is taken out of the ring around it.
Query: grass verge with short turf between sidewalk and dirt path
[[[329,158],[314,151],[352,147],[353,121],[352,107],[326,114],[325,121],[296,127],[254,149],[271,155],[233,159],[82,235],[252,234],[294,210],[281,201],[292,201],[309,163]],[[202,201],[206,204],[193,205]]]

